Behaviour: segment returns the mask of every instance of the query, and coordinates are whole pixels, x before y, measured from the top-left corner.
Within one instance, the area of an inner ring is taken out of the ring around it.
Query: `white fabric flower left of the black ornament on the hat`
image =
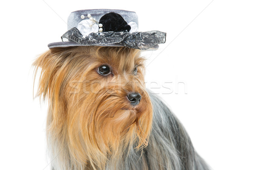
[[[89,35],[92,32],[98,32],[99,31],[99,26],[97,23],[94,23],[91,20],[82,20],[78,25],[77,29],[83,34],[83,37]],[[91,27],[90,27],[91,25]]]

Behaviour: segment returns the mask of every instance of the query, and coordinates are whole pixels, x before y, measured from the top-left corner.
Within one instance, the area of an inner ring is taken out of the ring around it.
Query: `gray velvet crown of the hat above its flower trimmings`
[[[138,16],[136,12],[134,11],[125,11],[125,10],[118,10],[118,9],[87,9],[87,10],[79,10],[72,12],[68,19],[67,19],[67,30],[70,30],[71,28],[74,28],[78,26],[78,24],[85,19],[81,18],[81,15],[87,16],[90,14],[93,18],[96,19],[96,21],[99,21],[100,18],[109,13],[109,12],[115,12],[117,14],[120,14],[123,19],[127,22],[135,22],[138,24]]]

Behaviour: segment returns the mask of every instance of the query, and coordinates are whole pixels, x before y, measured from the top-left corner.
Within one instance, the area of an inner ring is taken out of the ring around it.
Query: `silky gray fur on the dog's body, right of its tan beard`
[[[122,159],[110,159],[106,170],[210,170],[179,120],[156,95],[150,97],[154,113],[148,146],[143,152],[131,150]]]

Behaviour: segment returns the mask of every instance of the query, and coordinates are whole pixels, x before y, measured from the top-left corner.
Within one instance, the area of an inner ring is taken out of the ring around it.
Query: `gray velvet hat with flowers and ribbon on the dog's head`
[[[157,49],[165,43],[166,33],[138,31],[138,17],[133,11],[90,9],[74,11],[67,20],[67,32],[62,42],[52,42],[48,47],[71,46],[126,46],[141,50]]]

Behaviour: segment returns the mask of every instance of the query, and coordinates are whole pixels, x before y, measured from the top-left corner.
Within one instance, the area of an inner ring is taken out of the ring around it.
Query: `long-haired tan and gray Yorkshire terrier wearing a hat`
[[[48,100],[52,170],[209,170],[180,121],[145,88],[128,47],[52,48],[33,65]]]

